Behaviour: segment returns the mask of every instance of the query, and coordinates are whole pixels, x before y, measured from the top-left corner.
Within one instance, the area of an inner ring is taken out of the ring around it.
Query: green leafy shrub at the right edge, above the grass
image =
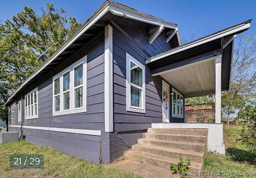
[[[240,110],[238,117],[242,119],[242,132],[238,140],[242,140],[249,151],[256,154],[256,107],[248,105]]]

